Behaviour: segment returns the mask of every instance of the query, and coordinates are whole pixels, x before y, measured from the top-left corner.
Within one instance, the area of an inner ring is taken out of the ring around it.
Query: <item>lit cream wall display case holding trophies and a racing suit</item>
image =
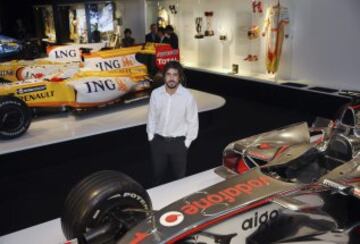
[[[181,60],[187,67],[267,81],[291,80],[292,1],[146,3],[148,25],[168,16],[167,24],[179,36]]]

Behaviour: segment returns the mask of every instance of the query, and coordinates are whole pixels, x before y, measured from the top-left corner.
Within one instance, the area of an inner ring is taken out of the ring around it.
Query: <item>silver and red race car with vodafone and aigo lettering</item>
[[[359,106],[351,104],[336,121],[318,119],[311,128],[293,124],[230,143],[223,166],[215,169],[222,182],[159,211],[152,210],[147,192],[130,177],[97,172],[69,193],[61,218],[63,232],[72,240],[69,243],[228,244],[245,243],[247,238],[249,243],[267,243],[259,236],[274,234],[271,223],[290,211],[302,216],[303,221],[294,225],[300,230],[309,230],[304,213],[313,213],[314,225],[320,227],[307,236],[341,232],[344,238],[336,243],[351,243],[349,233],[354,235],[360,218],[343,229],[329,211],[319,212],[336,204],[327,196],[341,194],[359,204],[359,115]],[[274,228],[285,237],[294,233],[286,223]]]

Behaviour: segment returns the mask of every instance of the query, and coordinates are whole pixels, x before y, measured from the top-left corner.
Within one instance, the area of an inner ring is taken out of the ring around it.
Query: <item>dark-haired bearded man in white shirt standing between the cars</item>
[[[181,84],[185,79],[181,64],[167,63],[163,76],[165,84],[151,94],[146,127],[154,185],[161,183],[168,164],[175,179],[185,176],[187,151],[199,129],[196,101]]]

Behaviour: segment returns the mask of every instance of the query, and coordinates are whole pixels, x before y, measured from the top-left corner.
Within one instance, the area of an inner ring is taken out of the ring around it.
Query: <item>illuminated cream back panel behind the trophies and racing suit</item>
[[[154,6],[154,2],[148,3],[148,7]],[[170,14],[170,19],[179,36],[181,60],[185,65],[229,72],[232,64],[237,64],[242,75],[265,76],[273,79],[273,76],[266,76],[264,54],[267,38],[249,40],[247,32],[252,24],[259,25],[262,29],[265,10],[275,2],[276,0],[263,0],[264,12],[256,15],[252,14],[250,0],[159,0],[155,3],[165,8],[170,4],[177,6],[178,13]],[[282,4],[291,8],[293,0],[282,0]],[[195,18],[203,18],[202,33],[204,33],[205,11],[214,13],[212,29],[215,31],[215,36],[195,39]],[[148,18],[156,15],[156,12],[149,10],[147,13]],[[291,11],[290,15],[292,19]],[[220,33],[226,34],[228,40],[220,41]],[[282,53],[279,77],[290,78],[292,41],[284,41]],[[244,61],[249,54],[258,55],[258,61]]]

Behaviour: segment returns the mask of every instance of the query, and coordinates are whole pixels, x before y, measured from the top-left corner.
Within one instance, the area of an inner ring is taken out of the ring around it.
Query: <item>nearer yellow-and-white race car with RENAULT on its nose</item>
[[[149,96],[151,80],[146,69],[84,71],[70,78],[43,79],[0,85],[0,138],[26,132],[32,113],[41,109],[84,110]]]

